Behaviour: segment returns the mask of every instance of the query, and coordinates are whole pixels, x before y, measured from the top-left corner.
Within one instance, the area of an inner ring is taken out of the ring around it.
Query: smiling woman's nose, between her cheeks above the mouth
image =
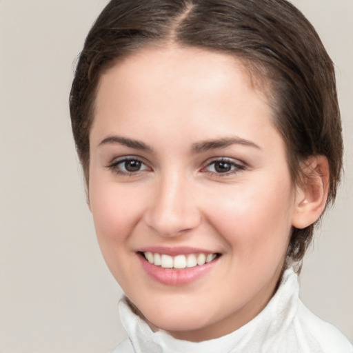
[[[193,230],[201,223],[192,185],[177,173],[156,182],[145,223],[161,236],[174,237]]]

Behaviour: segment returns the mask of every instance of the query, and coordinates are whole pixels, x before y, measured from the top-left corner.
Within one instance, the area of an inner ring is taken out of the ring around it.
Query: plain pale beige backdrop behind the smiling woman
[[[0,0],[0,352],[106,352],[121,290],[85,205],[68,93],[103,0]],[[353,1],[295,0],[336,63],[345,178],[304,263],[301,296],[353,341]]]

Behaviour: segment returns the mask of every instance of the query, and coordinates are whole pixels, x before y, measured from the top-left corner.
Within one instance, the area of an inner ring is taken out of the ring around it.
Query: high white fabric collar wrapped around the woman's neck
[[[135,314],[126,297],[119,303],[123,327],[137,353],[241,353],[267,352],[272,341],[290,327],[299,303],[298,277],[292,269],[283,273],[281,284],[268,305],[252,321],[238,330],[203,342],[174,339],[165,331],[153,332],[143,319]]]

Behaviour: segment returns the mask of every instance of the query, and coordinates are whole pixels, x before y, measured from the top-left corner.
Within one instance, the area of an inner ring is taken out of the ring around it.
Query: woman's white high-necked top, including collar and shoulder
[[[162,330],[153,332],[125,298],[119,314],[128,338],[110,353],[353,353],[353,345],[336,327],[301,302],[292,269],[284,272],[279,289],[259,315],[219,339],[194,343]]]

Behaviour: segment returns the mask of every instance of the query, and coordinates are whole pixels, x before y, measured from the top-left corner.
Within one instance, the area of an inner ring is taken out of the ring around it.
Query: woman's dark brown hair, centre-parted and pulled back
[[[301,162],[323,155],[334,201],[343,142],[334,65],[312,27],[285,0],[112,0],[85,40],[70,94],[72,130],[86,183],[90,127],[101,74],[150,43],[177,43],[231,54],[270,83],[274,125],[281,133],[294,183]],[[288,256],[301,260],[314,225],[292,230]]]

